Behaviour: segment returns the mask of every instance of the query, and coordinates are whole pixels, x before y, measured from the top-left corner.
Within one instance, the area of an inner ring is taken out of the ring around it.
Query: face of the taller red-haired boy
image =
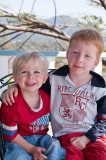
[[[98,64],[96,54],[97,48],[92,42],[85,43],[81,40],[74,40],[67,52],[69,75],[87,76],[89,71]]]

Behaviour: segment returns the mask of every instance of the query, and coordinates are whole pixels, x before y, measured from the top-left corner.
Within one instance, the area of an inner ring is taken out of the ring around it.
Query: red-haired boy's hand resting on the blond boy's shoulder
[[[18,87],[17,84],[13,84],[11,85],[8,90],[4,93],[2,101],[3,103],[5,103],[6,105],[12,105],[12,103],[14,103],[14,98],[13,96],[17,96],[18,95]]]

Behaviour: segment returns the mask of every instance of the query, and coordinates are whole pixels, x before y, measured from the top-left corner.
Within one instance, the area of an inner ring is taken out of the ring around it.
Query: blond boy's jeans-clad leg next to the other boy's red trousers
[[[48,157],[47,160],[65,160],[65,149],[61,147],[57,139],[49,135],[43,135],[38,145],[46,148],[44,154]]]

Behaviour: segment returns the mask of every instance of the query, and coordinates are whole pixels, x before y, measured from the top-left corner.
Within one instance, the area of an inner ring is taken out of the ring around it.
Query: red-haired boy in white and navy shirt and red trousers
[[[68,65],[50,73],[42,87],[51,87],[53,135],[66,149],[66,160],[106,159],[105,81],[92,71],[103,48],[103,38],[95,30],[75,32],[66,54]],[[13,101],[14,88],[5,94],[5,103]]]

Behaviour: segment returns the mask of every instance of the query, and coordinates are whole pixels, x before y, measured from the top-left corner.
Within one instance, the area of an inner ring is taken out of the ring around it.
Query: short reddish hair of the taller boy
[[[74,40],[81,40],[85,43],[89,42],[93,43],[98,50],[97,59],[100,58],[100,55],[104,49],[104,41],[100,33],[92,29],[81,29],[76,31],[75,33],[72,34],[70,38],[68,50],[70,49],[72,42]]]

